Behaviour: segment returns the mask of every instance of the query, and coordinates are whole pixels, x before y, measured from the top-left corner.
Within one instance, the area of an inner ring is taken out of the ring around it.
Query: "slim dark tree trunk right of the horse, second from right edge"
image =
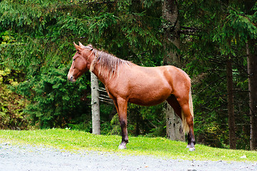
[[[229,130],[229,146],[236,149],[236,130],[235,130],[235,114],[233,105],[233,75],[231,57],[227,56],[226,60],[227,74],[227,92],[228,92],[228,130]]]

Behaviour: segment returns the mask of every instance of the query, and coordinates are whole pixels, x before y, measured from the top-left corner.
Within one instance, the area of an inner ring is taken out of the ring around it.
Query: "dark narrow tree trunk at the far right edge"
[[[251,117],[250,148],[257,150],[257,54],[256,46],[253,41],[248,41],[246,45],[248,63],[248,90],[249,108]]]

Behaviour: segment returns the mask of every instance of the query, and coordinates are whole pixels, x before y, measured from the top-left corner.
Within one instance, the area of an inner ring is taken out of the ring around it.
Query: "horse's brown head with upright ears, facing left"
[[[86,71],[89,71],[91,65],[89,58],[93,54],[93,46],[91,45],[84,46],[79,42],[79,45],[74,43],[74,46],[76,48],[76,53],[72,58],[73,61],[68,73],[68,80],[71,82],[76,81],[79,76],[84,74]]]

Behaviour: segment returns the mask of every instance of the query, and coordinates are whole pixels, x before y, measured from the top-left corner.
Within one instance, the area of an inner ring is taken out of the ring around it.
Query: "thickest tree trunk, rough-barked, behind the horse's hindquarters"
[[[166,55],[163,57],[163,65],[173,65],[180,67],[180,57],[177,50],[179,49],[180,30],[178,22],[178,6],[175,0],[164,0],[162,4],[162,16],[166,22],[163,24],[166,37],[166,45],[164,46]],[[181,118],[175,114],[173,108],[168,103],[164,105],[164,113],[166,113],[166,135],[171,140],[185,141],[183,134]]]

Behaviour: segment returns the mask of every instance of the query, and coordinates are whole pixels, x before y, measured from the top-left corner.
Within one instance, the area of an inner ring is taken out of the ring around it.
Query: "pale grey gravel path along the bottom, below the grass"
[[[67,152],[49,147],[0,144],[0,171],[118,171],[118,170],[257,170],[257,163],[165,160],[111,152]]]

